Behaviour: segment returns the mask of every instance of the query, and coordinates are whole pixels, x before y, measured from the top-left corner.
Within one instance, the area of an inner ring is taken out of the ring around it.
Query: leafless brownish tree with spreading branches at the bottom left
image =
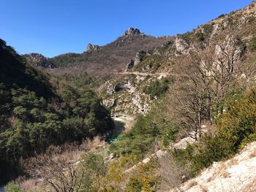
[[[49,147],[46,153],[26,160],[23,165],[32,177],[45,180],[54,191],[79,191],[88,176],[83,161],[78,161],[80,150],[78,145]]]

